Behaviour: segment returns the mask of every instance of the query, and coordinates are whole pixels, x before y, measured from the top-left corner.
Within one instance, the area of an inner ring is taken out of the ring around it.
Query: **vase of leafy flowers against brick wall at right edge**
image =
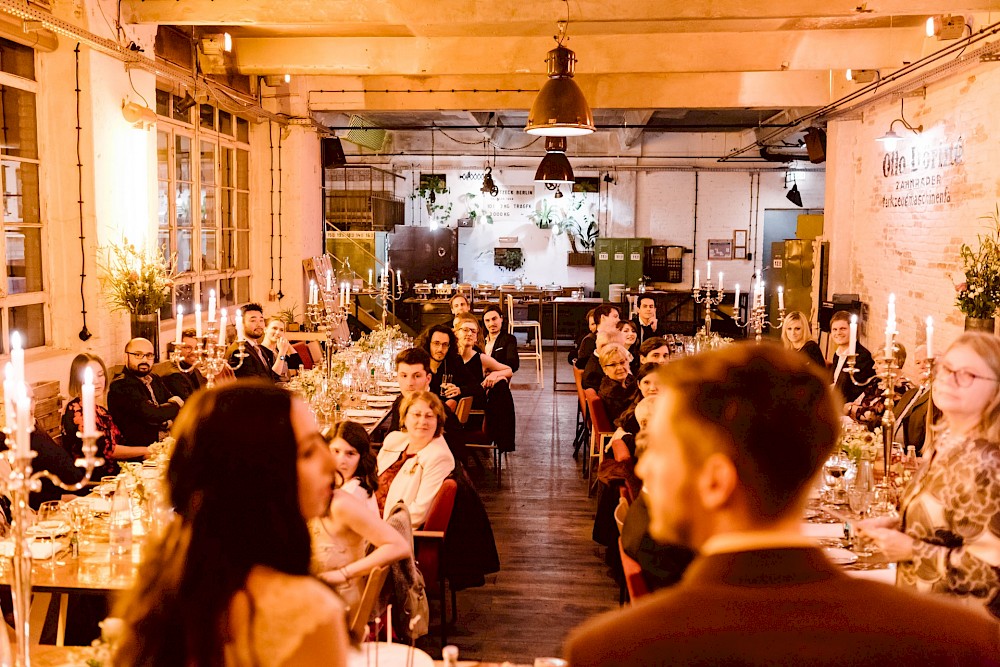
[[[967,331],[992,333],[1000,307],[1000,205],[983,219],[990,230],[978,236],[978,247],[963,243],[959,251],[965,279],[955,285],[955,305],[965,315]]]

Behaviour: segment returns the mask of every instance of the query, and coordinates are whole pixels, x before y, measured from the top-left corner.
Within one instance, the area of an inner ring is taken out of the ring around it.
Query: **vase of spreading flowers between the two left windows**
[[[174,261],[161,249],[140,248],[122,239],[101,249],[104,298],[111,310],[129,314],[133,338],[153,343],[160,360],[160,309],[170,302]]]

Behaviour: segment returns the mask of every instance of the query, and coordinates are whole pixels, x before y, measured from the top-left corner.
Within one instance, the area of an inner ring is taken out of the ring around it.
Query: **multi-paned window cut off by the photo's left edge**
[[[7,281],[0,287],[0,350],[12,331],[24,347],[46,343],[44,225],[39,196],[33,49],[0,38],[0,180]]]

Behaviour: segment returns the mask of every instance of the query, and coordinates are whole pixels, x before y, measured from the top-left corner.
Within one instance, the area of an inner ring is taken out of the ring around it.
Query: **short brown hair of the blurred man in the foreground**
[[[685,458],[728,456],[759,518],[785,515],[812,483],[840,436],[829,378],[777,345],[731,345],[660,371],[672,391]]]

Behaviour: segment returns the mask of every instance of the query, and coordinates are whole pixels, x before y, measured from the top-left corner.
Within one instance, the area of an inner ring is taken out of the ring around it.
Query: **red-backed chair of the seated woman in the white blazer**
[[[444,538],[448,532],[448,524],[451,523],[451,513],[455,509],[455,494],[458,492],[458,483],[453,479],[446,479],[441,484],[441,489],[430,508],[427,510],[427,519],[421,530],[413,531],[413,555],[417,560],[417,567],[424,575],[424,585],[427,587],[428,595],[431,591],[438,591],[438,601],[441,604],[441,645],[448,643],[448,605],[447,605],[447,582],[444,573]],[[458,617],[458,604],[455,590],[451,591],[451,612],[452,623]]]

